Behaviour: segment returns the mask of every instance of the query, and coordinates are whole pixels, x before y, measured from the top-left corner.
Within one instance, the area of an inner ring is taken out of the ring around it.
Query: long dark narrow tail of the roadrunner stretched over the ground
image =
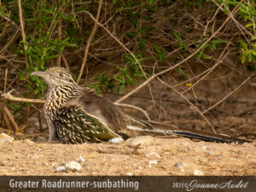
[[[226,137],[205,131],[194,131],[189,129],[177,128],[173,125],[167,125],[148,120],[132,119],[132,124],[127,128],[133,131],[148,131],[163,135],[178,135],[182,137],[197,138],[204,141],[216,143],[250,143],[247,140],[237,139],[234,137]]]

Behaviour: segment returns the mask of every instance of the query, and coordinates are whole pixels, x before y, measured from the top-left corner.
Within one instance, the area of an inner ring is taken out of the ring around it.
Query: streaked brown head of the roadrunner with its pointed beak
[[[33,72],[32,75],[42,77],[49,87],[60,86],[65,84],[76,84],[71,73],[62,67],[51,67],[44,72]]]

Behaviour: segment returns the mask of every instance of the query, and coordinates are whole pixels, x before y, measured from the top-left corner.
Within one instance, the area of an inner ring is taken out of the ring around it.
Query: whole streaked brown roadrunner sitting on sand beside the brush
[[[173,129],[172,125],[135,119],[123,113],[117,105],[93,89],[81,87],[71,73],[62,67],[52,67],[32,75],[42,77],[48,84],[44,116],[49,126],[49,142],[102,142],[114,137],[135,137],[147,132],[176,134],[219,143],[247,141],[224,137],[204,131]]]

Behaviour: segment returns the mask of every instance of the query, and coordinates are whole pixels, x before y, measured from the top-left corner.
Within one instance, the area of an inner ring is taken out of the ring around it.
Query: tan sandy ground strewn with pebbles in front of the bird
[[[208,143],[183,137],[79,145],[25,139],[0,143],[0,175],[256,175],[255,146],[256,142]],[[81,165],[80,171],[56,172],[73,160]]]

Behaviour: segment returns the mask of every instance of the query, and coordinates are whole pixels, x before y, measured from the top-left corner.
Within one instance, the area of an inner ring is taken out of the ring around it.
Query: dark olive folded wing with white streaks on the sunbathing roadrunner
[[[67,104],[60,108],[54,124],[57,136],[63,143],[102,142],[119,137],[102,119],[75,105]]]

